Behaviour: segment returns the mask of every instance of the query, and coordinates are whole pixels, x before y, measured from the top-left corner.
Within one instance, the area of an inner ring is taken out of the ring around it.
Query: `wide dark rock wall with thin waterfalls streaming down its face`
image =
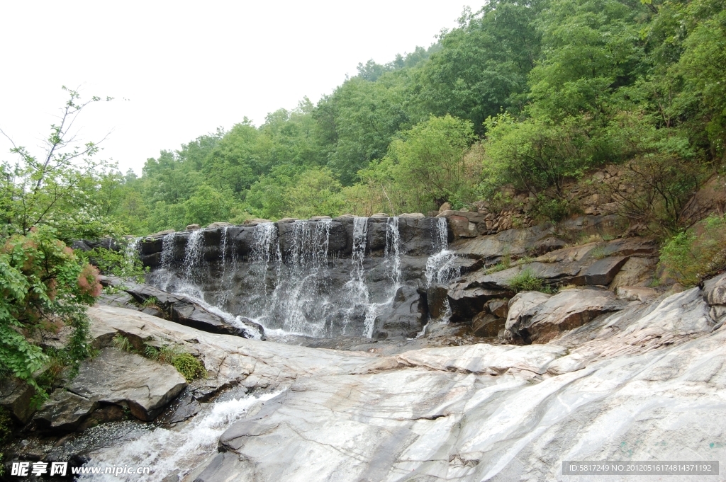
[[[405,339],[428,321],[429,278],[457,274],[448,236],[445,219],[295,220],[167,234],[145,240],[142,259],[153,286],[267,336]]]

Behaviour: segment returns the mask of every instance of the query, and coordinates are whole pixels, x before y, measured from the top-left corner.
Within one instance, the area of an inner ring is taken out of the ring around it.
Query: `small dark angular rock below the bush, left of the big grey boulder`
[[[74,431],[97,407],[97,401],[91,401],[63,388],[57,388],[48,401],[36,412],[33,420],[41,428]]]

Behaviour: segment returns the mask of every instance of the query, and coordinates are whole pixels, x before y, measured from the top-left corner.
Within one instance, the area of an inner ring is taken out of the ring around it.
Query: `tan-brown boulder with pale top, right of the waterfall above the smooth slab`
[[[626,303],[612,291],[568,289],[554,296],[526,292],[510,301],[505,339],[544,344],[590,322],[603,313],[623,309]]]

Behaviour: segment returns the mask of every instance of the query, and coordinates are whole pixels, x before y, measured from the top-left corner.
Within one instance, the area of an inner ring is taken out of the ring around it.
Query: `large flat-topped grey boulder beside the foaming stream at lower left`
[[[176,368],[114,348],[85,360],[65,388],[91,402],[128,407],[139,420],[154,420],[187,386]]]

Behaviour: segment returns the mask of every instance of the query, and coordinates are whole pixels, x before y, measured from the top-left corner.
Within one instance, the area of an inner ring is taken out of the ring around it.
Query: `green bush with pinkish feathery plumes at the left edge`
[[[49,356],[33,342],[38,332],[73,327],[62,350],[68,362],[91,355],[86,308],[101,293],[98,270],[82,262],[54,236],[52,228],[33,228],[0,246],[0,368],[44,390],[33,373]]]

